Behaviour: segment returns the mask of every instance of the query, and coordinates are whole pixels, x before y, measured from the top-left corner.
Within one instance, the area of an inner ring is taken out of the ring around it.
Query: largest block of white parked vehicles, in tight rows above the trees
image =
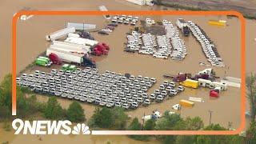
[[[74,72],[51,70],[50,73],[35,70],[34,74],[22,74],[16,78],[19,86],[29,87],[39,94],[74,99],[100,106],[122,106],[125,109],[150,105],[146,91],[154,85],[155,78],[123,75],[90,67]]]

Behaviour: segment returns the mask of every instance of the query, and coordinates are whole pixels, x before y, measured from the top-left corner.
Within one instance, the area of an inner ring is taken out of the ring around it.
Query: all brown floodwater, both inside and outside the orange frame
[[[49,2],[49,1],[48,1]],[[15,3],[15,4],[14,4]],[[18,10],[22,9],[24,6],[32,7],[36,10],[98,10],[98,6],[105,5],[109,10],[149,10],[149,7],[136,6],[128,2],[120,1],[86,1],[86,2],[74,2],[74,1],[62,1],[62,2],[49,2],[45,1],[15,1],[10,2],[3,0],[0,2],[0,17],[6,21],[1,21],[0,26],[5,27],[2,29],[2,35],[0,37],[0,43],[2,45],[2,53],[0,60],[2,62],[2,68],[0,69],[0,79],[10,72],[10,42],[11,42],[11,17]],[[159,10],[159,7],[154,7],[153,9]],[[146,17],[144,17],[146,18]],[[161,20],[166,18],[171,22],[175,22],[176,18],[180,17],[170,17],[170,16],[160,16],[154,17],[155,20]],[[218,76],[223,76],[224,71],[226,74],[234,77],[240,77],[239,71],[239,59],[240,59],[240,42],[239,42],[239,22],[237,18],[227,19],[230,26],[226,28],[221,28],[217,26],[209,26],[207,24],[208,19],[226,19],[225,17],[182,17],[186,20],[193,20],[198,23],[199,26],[206,31],[206,33],[214,40],[215,44],[218,46],[218,51],[221,54],[227,68],[218,68]],[[45,35],[49,34],[54,30],[61,29],[65,22],[91,22],[96,23],[98,27],[104,26],[105,22],[102,17],[33,17],[26,22],[18,23],[18,62],[17,70],[24,69],[34,58],[40,54],[42,51],[46,50],[48,43],[45,41]],[[8,28],[6,28],[8,27]],[[254,38],[256,38],[255,30],[256,22],[252,20],[247,21],[247,37],[246,37],[246,71],[256,71],[255,61],[253,56],[255,54],[255,44]],[[98,62],[98,68],[102,72],[104,70],[113,70],[120,73],[129,72],[134,75],[142,74],[144,76],[155,77],[158,79],[158,83],[153,87],[155,89],[159,86],[159,82],[162,82],[162,74],[170,73],[177,74],[178,72],[190,72],[192,74],[198,72],[198,70],[203,70],[206,67],[199,66],[198,62],[206,62],[206,58],[200,50],[200,46],[195,42],[194,38],[185,38],[186,46],[188,48],[188,55],[186,59],[182,62],[174,62],[169,60],[154,59],[148,56],[139,54],[127,54],[123,50],[123,42],[126,41],[124,33],[129,30],[128,26],[118,26],[114,33],[109,36],[100,36],[95,34],[95,38],[101,42],[107,42],[111,46],[110,54],[106,58],[96,58]],[[232,53],[230,54],[230,52]],[[7,60],[7,61],[6,61]],[[179,99],[187,98],[189,96],[196,96],[203,98],[206,102],[196,102],[194,108],[192,109],[182,109],[182,116],[200,116],[203,121],[207,124],[209,120],[208,110],[213,110],[212,122],[221,123],[223,126],[227,126],[228,122],[233,122],[233,127],[239,126],[239,102],[240,95],[239,90],[230,88],[226,92],[221,94],[218,99],[210,99],[208,96],[208,90],[186,90],[183,94],[170,99],[168,101],[153,104],[148,107],[141,107],[138,110],[133,110],[127,112],[133,118],[138,117],[141,119],[143,113],[150,114],[152,110],[158,109],[160,111],[170,110],[170,106],[177,103]],[[38,97],[42,101],[46,101],[44,96]],[[62,106],[68,106],[70,101],[59,98],[59,102]],[[82,104],[86,111],[86,118],[90,118],[94,106],[87,104]],[[248,107],[248,106],[247,106]],[[5,135],[3,137],[3,135]],[[69,137],[69,136],[43,136],[42,143],[54,142],[87,142],[87,143],[106,143],[110,141],[111,143],[136,143],[137,141],[131,140],[126,136],[82,136]],[[2,139],[4,138],[4,139]],[[22,143],[30,139],[30,142],[40,142],[38,138],[33,135],[17,135],[14,136],[12,132],[5,132],[0,130],[0,142],[10,141],[12,143]],[[141,143],[141,142],[137,142]]]

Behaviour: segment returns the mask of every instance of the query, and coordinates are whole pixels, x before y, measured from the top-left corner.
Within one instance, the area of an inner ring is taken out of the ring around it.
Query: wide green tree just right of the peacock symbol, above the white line
[[[90,126],[98,126],[101,128],[110,128],[114,125],[114,113],[112,110],[98,107],[94,110],[94,115],[90,119]]]

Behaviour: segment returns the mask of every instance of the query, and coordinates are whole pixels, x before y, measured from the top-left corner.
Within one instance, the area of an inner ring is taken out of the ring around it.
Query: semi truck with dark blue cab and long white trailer
[[[46,55],[49,58],[54,59],[61,59],[64,62],[76,63],[80,66],[90,66],[96,67],[95,62],[91,61],[89,58],[86,58],[85,54],[77,54],[77,53],[70,53],[64,50],[58,50],[54,48],[48,48],[46,50]]]

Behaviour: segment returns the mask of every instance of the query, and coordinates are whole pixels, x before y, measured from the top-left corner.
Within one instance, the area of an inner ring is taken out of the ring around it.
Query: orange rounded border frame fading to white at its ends
[[[237,11],[19,11],[12,19],[12,114],[16,115],[16,26],[21,15],[234,15],[241,22],[241,125],[237,130],[92,130],[92,134],[238,134],[245,127],[246,104],[246,25],[245,18]]]

